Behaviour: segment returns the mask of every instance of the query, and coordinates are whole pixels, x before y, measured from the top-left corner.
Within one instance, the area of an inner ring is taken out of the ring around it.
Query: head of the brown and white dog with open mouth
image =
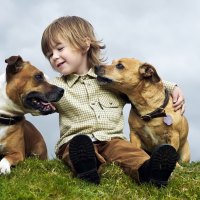
[[[24,113],[47,115],[55,112],[52,102],[60,100],[64,90],[47,82],[44,74],[20,56],[5,60],[6,93]]]

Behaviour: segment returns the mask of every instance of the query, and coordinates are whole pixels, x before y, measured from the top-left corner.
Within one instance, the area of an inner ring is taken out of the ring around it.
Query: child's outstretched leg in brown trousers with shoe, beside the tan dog
[[[151,158],[142,149],[122,139],[113,139],[98,149],[107,162],[117,163],[136,181],[152,182],[156,186],[167,184],[178,160],[176,150],[170,145],[158,147]]]

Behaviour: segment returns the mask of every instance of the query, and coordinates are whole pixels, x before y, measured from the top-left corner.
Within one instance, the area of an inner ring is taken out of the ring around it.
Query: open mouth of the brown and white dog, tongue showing
[[[42,115],[48,115],[56,111],[52,102],[45,95],[38,92],[29,93],[24,99],[24,106],[38,110]]]

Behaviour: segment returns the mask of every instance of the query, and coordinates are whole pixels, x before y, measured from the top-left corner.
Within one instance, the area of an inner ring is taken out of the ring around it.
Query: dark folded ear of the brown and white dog
[[[22,69],[23,60],[21,56],[11,56],[5,60],[8,63],[6,67],[6,79],[10,79],[10,76],[16,74]]]

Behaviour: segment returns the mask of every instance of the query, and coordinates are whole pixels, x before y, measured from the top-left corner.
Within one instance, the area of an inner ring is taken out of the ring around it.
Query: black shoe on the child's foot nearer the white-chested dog
[[[77,135],[69,143],[69,157],[77,177],[99,184],[97,160],[92,140],[86,135]]]

